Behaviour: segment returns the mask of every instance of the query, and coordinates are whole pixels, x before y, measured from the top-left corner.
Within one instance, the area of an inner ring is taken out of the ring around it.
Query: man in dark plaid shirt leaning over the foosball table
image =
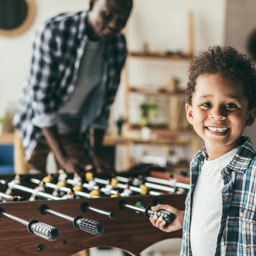
[[[13,119],[16,173],[45,172],[49,151],[70,173],[111,167],[102,139],[127,56],[121,29],[131,10],[132,0],[90,0],[88,11],[57,15],[39,28]]]

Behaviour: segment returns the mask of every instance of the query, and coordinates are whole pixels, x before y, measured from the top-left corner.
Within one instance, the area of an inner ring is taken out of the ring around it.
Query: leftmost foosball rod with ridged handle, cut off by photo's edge
[[[45,240],[55,241],[58,238],[58,230],[55,227],[39,222],[38,220],[23,220],[22,218],[5,213],[2,207],[0,207],[0,215],[8,218],[9,220],[23,224],[27,227],[29,233],[35,234],[36,236],[39,236]]]

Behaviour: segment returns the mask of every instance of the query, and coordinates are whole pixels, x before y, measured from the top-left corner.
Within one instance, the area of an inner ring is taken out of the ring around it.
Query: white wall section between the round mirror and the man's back
[[[29,72],[32,37],[38,26],[52,15],[88,8],[88,0],[34,1],[36,14],[32,26],[21,35],[0,35],[0,117],[15,107],[23,81]]]

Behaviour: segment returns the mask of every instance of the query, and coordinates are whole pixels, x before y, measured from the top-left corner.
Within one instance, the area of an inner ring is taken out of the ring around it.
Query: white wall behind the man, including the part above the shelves
[[[140,49],[149,42],[151,49],[169,45],[188,47],[187,13],[195,14],[196,51],[214,43],[222,43],[224,35],[223,0],[135,0],[128,24],[128,43],[131,49]],[[88,8],[88,0],[35,0],[36,15],[32,26],[21,35],[0,36],[0,116],[13,110],[30,65],[32,36],[48,17],[63,11]],[[119,98],[123,95],[118,92]],[[123,111],[123,99],[114,107],[113,118]],[[118,111],[115,111],[118,110]]]

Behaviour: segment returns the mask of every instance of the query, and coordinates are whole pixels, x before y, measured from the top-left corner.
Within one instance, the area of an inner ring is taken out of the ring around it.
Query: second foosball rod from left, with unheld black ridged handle
[[[53,216],[68,220],[73,223],[73,226],[76,227],[76,229],[81,229],[95,236],[99,236],[104,233],[104,226],[99,221],[90,220],[89,218],[83,218],[82,216],[67,216],[66,214],[49,209],[48,205],[46,204],[41,205],[40,213],[43,215],[49,213]]]

